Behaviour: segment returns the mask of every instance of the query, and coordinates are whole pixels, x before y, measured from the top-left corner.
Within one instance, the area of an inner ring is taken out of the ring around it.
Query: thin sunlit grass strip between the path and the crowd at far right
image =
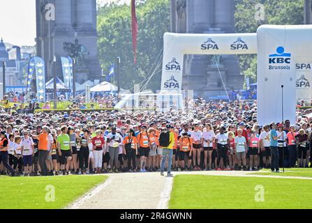
[[[280,169],[280,173],[272,173],[268,169],[262,169],[259,172],[254,172],[251,174],[255,175],[267,175],[267,176],[304,176],[312,178],[312,168],[285,168],[285,172],[283,173],[283,169]]]

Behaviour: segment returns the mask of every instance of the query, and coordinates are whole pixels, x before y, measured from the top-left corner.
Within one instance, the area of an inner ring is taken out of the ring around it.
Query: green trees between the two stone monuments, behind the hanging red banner
[[[137,5],[139,24],[137,63],[134,64],[131,6],[107,4],[98,8],[98,52],[105,73],[117,56],[121,57],[121,88],[131,89],[154,71],[148,89],[161,85],[161,64],[156,68],[158,55],[162,56],[163,34],[170,31],[170,1],[147,0]],[[161,60],[158,60],[161,62]]]

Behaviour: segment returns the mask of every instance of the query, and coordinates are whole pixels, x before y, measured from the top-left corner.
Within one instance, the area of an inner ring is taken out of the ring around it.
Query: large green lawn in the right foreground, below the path
[[[264,190],[264,201],[259,190]],[[312,208],[312,180],[234,176],[174,177],[169,208]]]

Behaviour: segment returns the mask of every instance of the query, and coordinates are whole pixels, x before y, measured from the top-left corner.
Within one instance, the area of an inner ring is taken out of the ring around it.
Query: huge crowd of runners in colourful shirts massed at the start
[[[187,100],[186,111],[0,111],[0,173],[48,176],[118,172],[309,167],[311,110],[297,122],[258,125],[256,102]],[[311,167],[311,166],[310,166]]]

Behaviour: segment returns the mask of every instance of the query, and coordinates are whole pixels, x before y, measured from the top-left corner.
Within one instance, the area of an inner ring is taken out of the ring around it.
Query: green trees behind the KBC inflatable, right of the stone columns
[[[265,20],[255,20],[261,3],[265,9]],[[255,33],[261,24],[303,24],[304,0],[235,0],[235,27],[238,33]],[[251,78],[251,83],[257,81],[257,56],[239,56],[242,73]]]

